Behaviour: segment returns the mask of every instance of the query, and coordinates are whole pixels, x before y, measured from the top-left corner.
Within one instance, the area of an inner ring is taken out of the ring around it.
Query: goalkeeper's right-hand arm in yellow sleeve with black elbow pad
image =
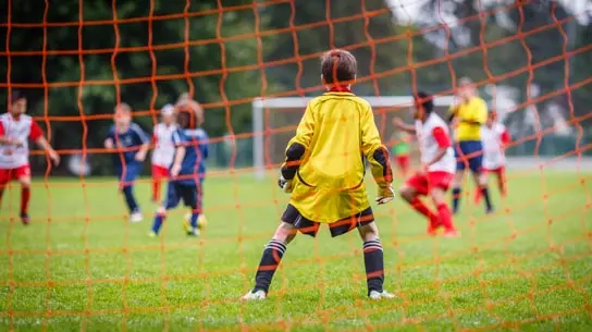
[[[388,150],[382,145],[380,139],[372,109],[369,107],[367,110],[362,110],[362,112],[360,118],[361,151],[368,162],[370,162],[372,176],[379,186],[377,201],[383,204],[393,199],[395,195],[391,187],[393,183],[391,158]]]

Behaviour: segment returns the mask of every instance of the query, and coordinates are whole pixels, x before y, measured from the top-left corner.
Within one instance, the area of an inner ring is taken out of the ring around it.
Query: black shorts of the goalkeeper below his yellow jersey
[[[320,223],[306,219],[300,214],[300,211],[296,209],[293,205],[288,204],[284,214],[282,214],[282,221],[291,223],[298,229],[303,234],[310,235],[312,237],[317,236],[319,232]],[[329,224],[329,231],[331,236],[343,235],[354,229],[359,226],[367,225],[374,221],[374,214],[372,213],[372,208],[368,208],[357,214],[354,214],[349,218],[345,218]]]

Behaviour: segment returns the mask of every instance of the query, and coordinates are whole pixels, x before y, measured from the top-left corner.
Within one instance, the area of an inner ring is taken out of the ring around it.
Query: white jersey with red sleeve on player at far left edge
[[[33,118],[21,114],[14,119],[10,113],[0,115],[0,136],[22,143],[22,146],[0,144],[0,169],[16,169],[28,164],[28,139],[37,140],[44,135]]]

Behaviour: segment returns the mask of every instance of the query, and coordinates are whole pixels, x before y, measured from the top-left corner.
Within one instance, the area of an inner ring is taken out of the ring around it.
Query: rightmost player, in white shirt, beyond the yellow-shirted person
[[[485,125],[481,128],[481,142],[483,143],[483,172],[481,183],[488,183],[488,174],[495,173],[497,187],[503,197],[506,196],[506,156],[505,148],[511,137],[506,126],[497,122],[497,114],[490,112]],[[476,193],[476,202],[481,199],[481,193]]]

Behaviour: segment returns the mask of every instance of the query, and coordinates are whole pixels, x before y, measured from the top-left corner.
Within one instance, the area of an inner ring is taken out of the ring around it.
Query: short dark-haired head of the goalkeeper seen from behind
[[[356,79],[358,62],[345,50],[332,50],[321,57],[321,74],[326,84],[350,84]]]

